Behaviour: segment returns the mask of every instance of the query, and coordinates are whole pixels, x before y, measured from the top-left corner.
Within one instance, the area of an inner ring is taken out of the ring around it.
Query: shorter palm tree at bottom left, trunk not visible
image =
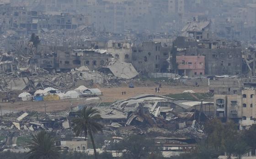
[[[27,142],[30,151],[28,159],[58,159],[60,147],[56,146],[56,138],[45,130],[33,135],[32,141]]]

